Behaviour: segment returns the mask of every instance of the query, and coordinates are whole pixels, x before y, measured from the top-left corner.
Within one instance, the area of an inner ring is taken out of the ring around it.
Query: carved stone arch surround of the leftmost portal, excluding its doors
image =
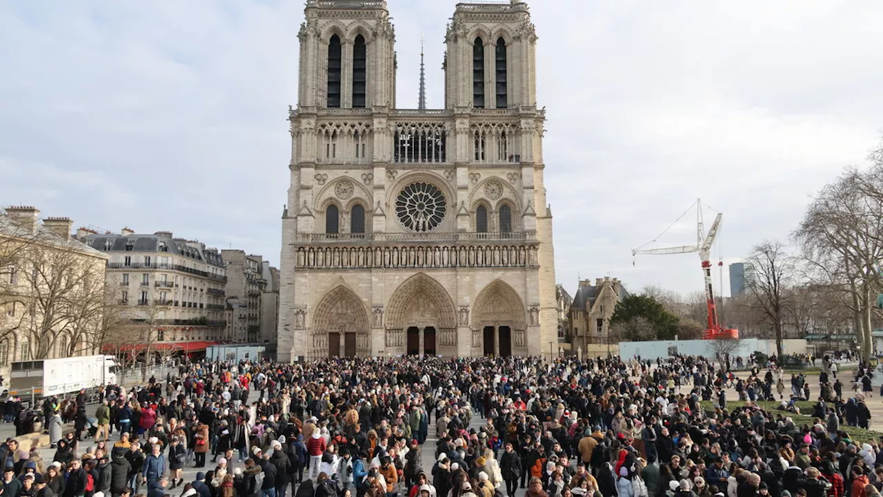
[[[356,353],[371,353],[368,314],[358,296],[343,286],[325,294],[313,311],[313,356],[328,354],[328,333],[356,333]]]

